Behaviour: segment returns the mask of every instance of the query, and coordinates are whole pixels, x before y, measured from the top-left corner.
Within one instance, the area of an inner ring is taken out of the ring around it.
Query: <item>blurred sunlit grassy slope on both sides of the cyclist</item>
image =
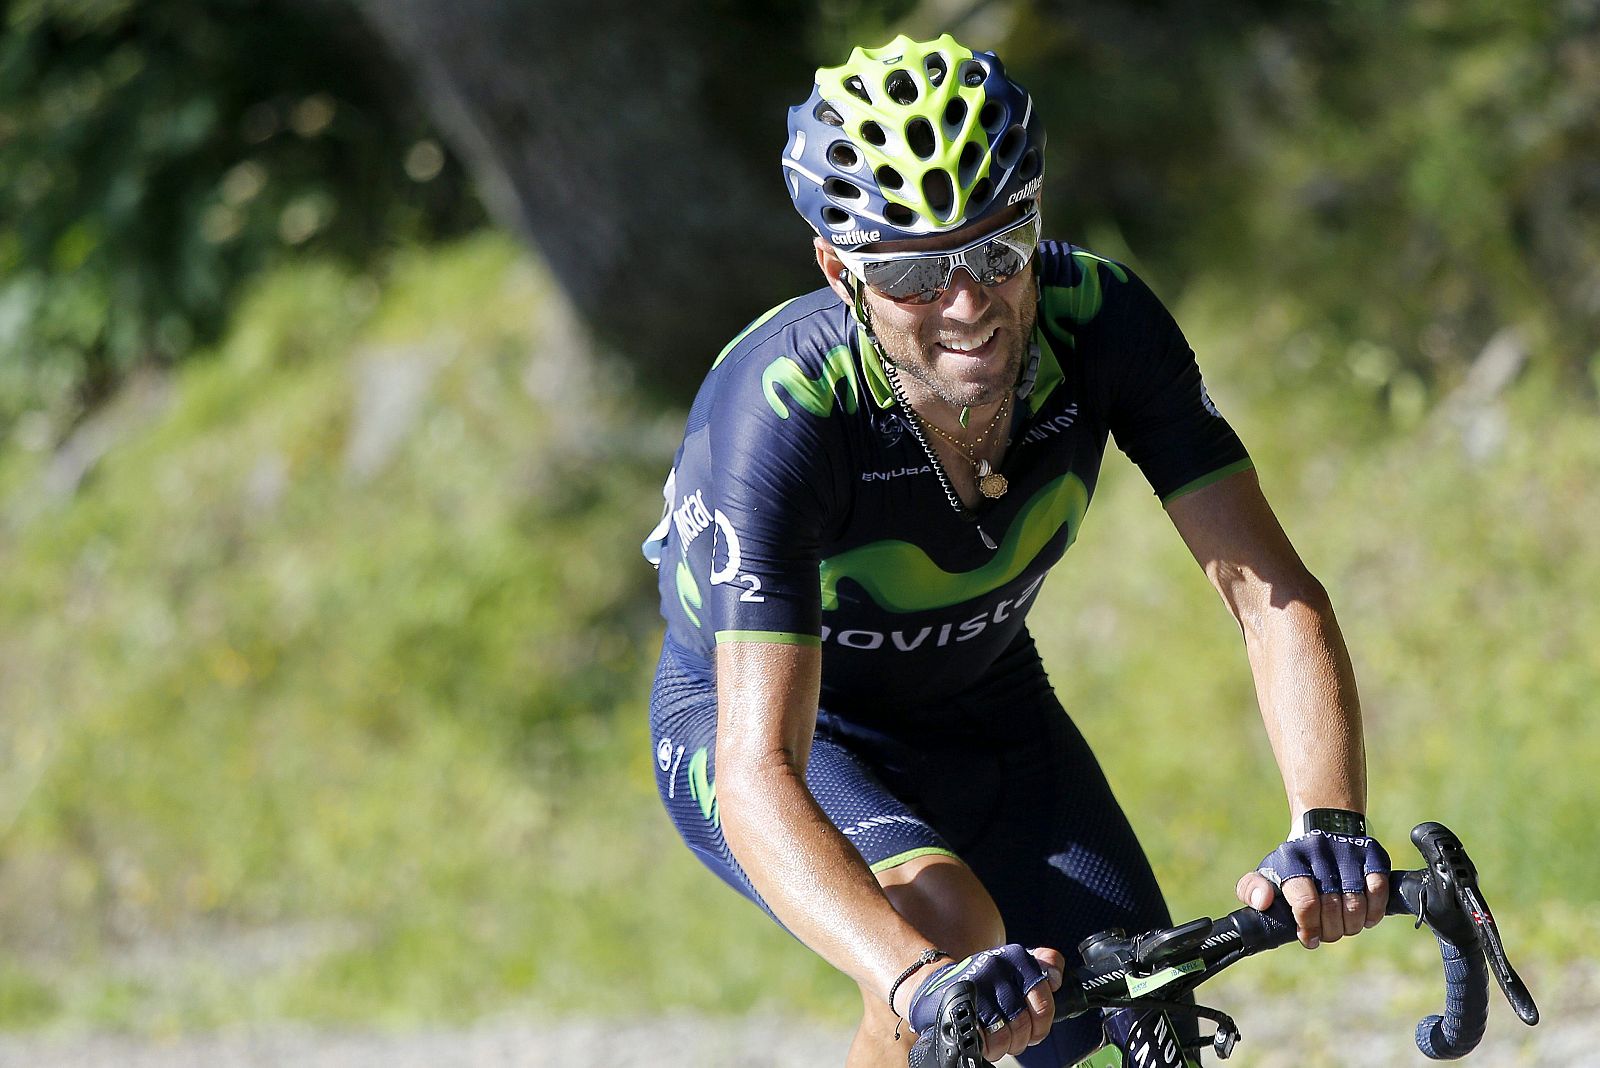
[[[1179,320],[1339,606],[1379,833],[1408,863],[1453,825],[1530,970],[1571,962],[1600,929],[1592,404],[1536,366],[1464,435],[1354,379],[1285,390],[1261,368],[1317,339],[1229,301]],[[682,414],[574,374],[563,323],[493,237],[283,270],[165,406],[118,401],[74,496],[0,456],[0,1026],[848,1018],[659,812],[637,544]],[[1237,633],[1120,456],[1032,619],[1174,911],[1226,910],[1285,806]]]

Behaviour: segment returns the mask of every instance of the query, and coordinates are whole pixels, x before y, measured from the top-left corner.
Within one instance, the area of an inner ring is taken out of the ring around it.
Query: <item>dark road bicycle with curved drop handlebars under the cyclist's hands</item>
[[[1539,1022],[1539,1009],[1506,956],[1499,929],[1478,889],[1478,870],[1461,839],[1442,823],[1419,823],[1411,841],[1426,867],[1390,871],[1389,915],[1416,918],[1438,940],[1445,966],[1445,1010],[1416,1028],[1416,1046],[1434,1060],[1472,1052],[1488,1022],[1488,972],[1523,1023]],[[1067,970],[1056,991],[1056,1018],[1123,1009],[1104,1015],[1104,1044],[1077,1068],[1195,1068],[1210,1047],[1227,1058],[1240,1039],[1232,1017],[1186,996],[1200,983],[1246,956],[1294,942],[1294,916],[1282,895],[1267,911],[1240,908],[1176,927],[1126,937],[1102,931],[1078,943],[1082,967]],[[1182,1039],[1173,1017],[1216,1025],[1205,1039]],[[970,982],[954,983],[939,1004],[938,1026],[910,1050],[910,1068],[987,1068],[982,1031]]]

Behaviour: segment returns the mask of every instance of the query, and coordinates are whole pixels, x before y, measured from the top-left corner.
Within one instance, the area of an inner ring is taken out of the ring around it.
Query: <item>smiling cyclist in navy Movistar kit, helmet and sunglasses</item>
[[[851,1068],[904,1065],[960,977],[990,1058],[1072,1063],[1099,1031],[1051,1028],[1062,951],[1170,923],[1024,625],[1107,436],[1243,630],[1293,828],[1242,900],[1282,884],[1312,948],[1384,911],[1326,595],[1157,297],[1040,240],[1043,168],[992,53],[898,37],[819,69],[782,174],[827,285],[717,357],[645,544],[661,798],[861,986]]]

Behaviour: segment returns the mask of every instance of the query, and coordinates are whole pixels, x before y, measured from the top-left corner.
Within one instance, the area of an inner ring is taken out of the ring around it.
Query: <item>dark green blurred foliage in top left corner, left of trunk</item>
[[[355,13],[18,0],[0,35],[0,427],[59,435],[216,342],[298,253],[366,264],[483,213]],[[43,420],[42,425],[40,420]]]

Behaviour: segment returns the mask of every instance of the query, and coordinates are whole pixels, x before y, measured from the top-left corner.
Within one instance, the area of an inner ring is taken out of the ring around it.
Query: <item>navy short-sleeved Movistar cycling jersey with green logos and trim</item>
[[[645,553],[669,638],[821,644],[822,702],[894,715],[978,683],[1077,537],[1107,436],[1163,500],[1250,467],[1194,352],[1126,267],[1038,246],[1037,363],[1000,465],[1010,491],[952,507],[882,363],[827,288],[717,358]]]

